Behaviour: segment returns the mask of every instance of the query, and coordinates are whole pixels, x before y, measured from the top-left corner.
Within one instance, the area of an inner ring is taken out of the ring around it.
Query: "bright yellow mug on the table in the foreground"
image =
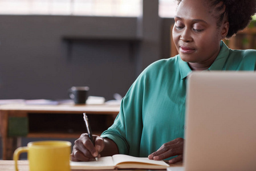
[[[24,152],[27,152],[30,171],[70,171],[71,143],[68,141],[35,141],[17,148],[13,156],[16,171],[19,155]]]

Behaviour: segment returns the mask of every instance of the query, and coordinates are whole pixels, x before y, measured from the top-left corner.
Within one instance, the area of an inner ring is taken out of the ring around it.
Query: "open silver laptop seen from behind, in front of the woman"
[[[256,72],[189,76],[184,167],[168,170],[256,170]]]

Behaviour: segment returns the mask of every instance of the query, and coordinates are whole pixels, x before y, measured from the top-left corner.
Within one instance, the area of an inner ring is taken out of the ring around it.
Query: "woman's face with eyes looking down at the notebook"
[[[204,1],[181,1],[174,17],[175,46],[181,59],[194,69],[210,67],[220,51],[220,40],[225,34],[223,24],[217,26],[217,19],[210,14]]]

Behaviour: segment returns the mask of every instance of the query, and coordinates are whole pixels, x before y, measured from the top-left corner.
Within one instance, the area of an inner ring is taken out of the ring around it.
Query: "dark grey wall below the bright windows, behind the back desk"
[[[136,74],[122,39],[136,37],[136,25],[136,18],[0,16],[0,98],[65,99],[71,86],[124,95]]]

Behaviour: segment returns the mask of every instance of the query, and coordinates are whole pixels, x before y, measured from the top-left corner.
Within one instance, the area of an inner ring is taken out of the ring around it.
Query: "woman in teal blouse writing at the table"
[[[245,28],[256,11],[255,0],[179,0],[173,40],[177,56],[147,67],[121,102],[115,123],[101,137],[75,141],[73,161],[116,153],[182,161],[186,77],[192,71],[251,70],[255,50],[230,50],[222,39]]]

